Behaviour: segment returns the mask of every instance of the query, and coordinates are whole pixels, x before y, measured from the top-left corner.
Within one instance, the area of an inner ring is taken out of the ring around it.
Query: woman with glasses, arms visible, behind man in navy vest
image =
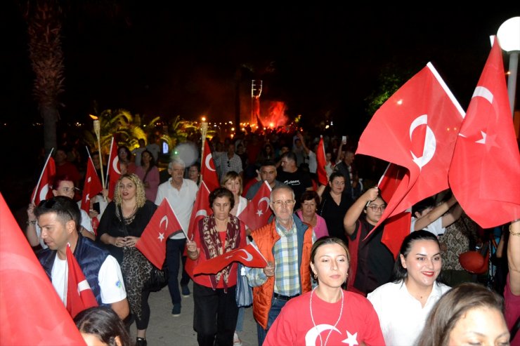
[[[68,175],[55,176],[53,178],[53,182],[51,183],[51,188],[53,196],[65,196],[69,197],[70,199],[74,197],[74,193],[76,191],[74,182],[68,177]],[[41,238],[41,228],[37,224],[34,208],[36,208],[34,203],[30,203],[29,207],[27,208],[27,227],[25,227],[25,237],[27,237],[27,241],[29,241],[31,246],[34,247],[40,245],[41,248],[47,248],[44,239]],[[79,213],[79,232],[83,237],[96,240],[89,214],[87,214],[82,209],[79,210]]]

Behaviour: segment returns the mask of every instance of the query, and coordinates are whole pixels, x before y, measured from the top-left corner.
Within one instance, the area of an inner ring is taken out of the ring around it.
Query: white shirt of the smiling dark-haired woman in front
[[[415,345],[429,312],[450,288],[435,283],[424,307],[408,293],[403,281],[398,284],[389,282],[368,293],[367,298],[377,312],[386,345]]]

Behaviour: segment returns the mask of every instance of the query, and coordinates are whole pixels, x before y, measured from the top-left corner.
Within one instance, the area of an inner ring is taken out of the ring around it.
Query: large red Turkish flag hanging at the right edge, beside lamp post
[[[464,212],[483,228],[520,218],[520,154],[498,40],[457,137],[449,180]]]

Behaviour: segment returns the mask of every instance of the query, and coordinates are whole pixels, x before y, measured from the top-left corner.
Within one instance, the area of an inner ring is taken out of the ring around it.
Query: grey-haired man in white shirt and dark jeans
[[[157,188],[157,197],[155,197],[155,204],[159,206],[163,199],[167,199],[174,209],[178,222],[185,232],[188,232],[188,225],[190,223],[191,212],[193,211],[193,204],[197,197],[197,184],[190,179],[183,178],[184,168],[186,164],[181,159],[173,159],[168,164],[168,173],[171,178],[167,182],[163,182]],[[181,293],[184,297],[190,295],[188,283],[190,276],[185,270],[186,255],[184,249],[186,248],[186,236],[183,232],[176,232],[172,234],[166,242],[166,260],[168,265],[168,289],[171,297],[171,315],[178,317],[181,315]],[[179,264],[182,262],[182,277],[181,277],[181,291],[178,289],[178,270]]]

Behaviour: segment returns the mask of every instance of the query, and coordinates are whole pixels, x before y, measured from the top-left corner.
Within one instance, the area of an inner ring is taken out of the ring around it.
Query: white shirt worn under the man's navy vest
[[[67,304],[67,260],[60,260],[58,254],[54,259],[53,269],[51,270],[51,279],[60,296],[63,304]],[[101,292],[101,302],[104,304],[112,304],[126,298],[126,290],[124,289],[123,274],[117,260],[108,255],[105,262],[101,265],[98,273],[98,283]]]

